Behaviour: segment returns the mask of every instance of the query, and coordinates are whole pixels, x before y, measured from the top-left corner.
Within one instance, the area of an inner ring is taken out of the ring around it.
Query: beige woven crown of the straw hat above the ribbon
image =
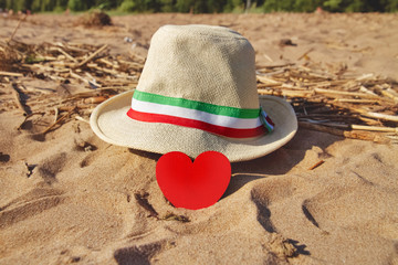
[[[254,50],[238,32],[165,25],[153,36],[138,91],[237,108],[259,108]]]

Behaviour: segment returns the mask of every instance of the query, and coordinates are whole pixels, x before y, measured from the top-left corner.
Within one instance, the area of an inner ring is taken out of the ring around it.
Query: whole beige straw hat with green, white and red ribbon
[[[289,103],[259,98],[249,41],[210,25],[161,26],[137,88],[98,105],[90,123],[114,145],[192,158],[214,150],[231,162],[270,153],[297,129]]]

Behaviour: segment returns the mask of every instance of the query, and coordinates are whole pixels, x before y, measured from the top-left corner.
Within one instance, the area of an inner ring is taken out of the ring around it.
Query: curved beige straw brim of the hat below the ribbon
[[[292,106],[274,96],[260,97],[262,108],[275,124],[274,130],[258,138],[241,140],[195,128],[134,120],[127,116],[133,94],[134,91],[130,91],[114,96],[100,104],[92,113],[91,127],[104,141],[157,153],[181,151],[192,158],[213,150],[235,162],[276,150],[291,140],[297,130],[297,119]]]

